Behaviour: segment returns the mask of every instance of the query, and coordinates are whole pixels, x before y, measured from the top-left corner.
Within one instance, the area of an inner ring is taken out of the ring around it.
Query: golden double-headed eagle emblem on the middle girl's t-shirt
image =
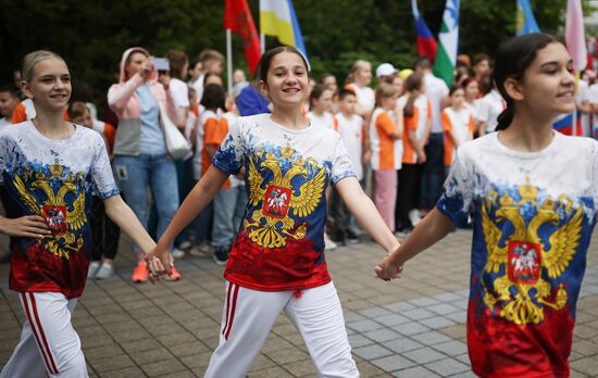
[[[322,201],[326,167],[312,158],[294,155],[290,147],[283,148],[279,156],[260,148],[248,159],[249,204],[257,209],[244,226],[249,238],[263,248],[285,247],[288,237],[303,239],[307,224],[295,222],[310,215]]]

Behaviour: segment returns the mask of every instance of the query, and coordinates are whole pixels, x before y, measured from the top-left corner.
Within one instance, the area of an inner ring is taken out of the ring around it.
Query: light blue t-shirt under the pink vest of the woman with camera
[[[141,140],[139,153],[162,155],[166,153],[164,134],[160,127],[160,106],[153,97],[150,86],[146,83],[135,89],[139,100],[139,117],[141,118]]]

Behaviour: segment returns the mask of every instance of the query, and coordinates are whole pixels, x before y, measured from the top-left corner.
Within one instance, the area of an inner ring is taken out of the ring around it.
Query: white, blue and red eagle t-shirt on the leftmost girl
[[[102,137],[86,127],[64,140],[41,135],[30,121],[0,130],[0,182],[20,215],[39,215],[51,235],[16,238],[10,288],[80,297],[91,255],[91,194],[119,194]]]

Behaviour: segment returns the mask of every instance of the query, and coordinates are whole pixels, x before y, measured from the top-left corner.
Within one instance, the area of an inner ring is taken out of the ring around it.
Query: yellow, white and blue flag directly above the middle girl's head
[[[308,59],[292,1],[260,0],[260,33],[277,37],[281,43],[292,46]]]

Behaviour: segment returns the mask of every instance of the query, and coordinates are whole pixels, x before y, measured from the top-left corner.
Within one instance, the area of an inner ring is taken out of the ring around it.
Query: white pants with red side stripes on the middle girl
[[[226,291],[220,344],[205,378],[245,377],[282,311],[303,337],[320,377],[359,377],[333,282],[303,290],[300,298],[231,282]]]

